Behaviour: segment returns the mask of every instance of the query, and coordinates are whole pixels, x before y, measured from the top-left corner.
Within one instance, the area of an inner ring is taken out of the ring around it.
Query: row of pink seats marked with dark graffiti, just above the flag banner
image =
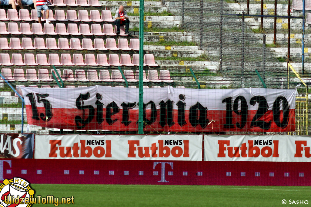
[[[26,78],[24,76],[24,70],[15,68],[14,73],[12,76],[12,70],[10,68],[2,68],[1,74],[2,76],[8,81],[13,82],[15,80],[20,82],[32,81],[32,82],[51,82],[54,80],[53,74],[54,69],[51,70],[51,74],[49,74],[48,69],[39,69],[38,76],[35,69],[27,69],[26,70]],[[61,75],[61,71],[57,69],[59,75]],[[56,77],[58,77],[55,74]],[[137,82],[139,80],[139,70],[136,70],[136,75],[134,76],[133,70],[124,70],[124,76],[128,82]],[[1,77],[2,79],[2,77]],[[57,78],[59,79],[59,78]],[[73,76],[73,71],[71,69],[64,69],[62,80],[74,82],[74,81],[81,81],[81,82],[125,82],[122,74],[119,70],[112,70],[111,78],[109,75],[108,70],[100,70],[99,76],[97,74],[97,70],[87,70],[87,76],[85,71],[82,69],[77,69],[75,71],[75,75]],[[160,78],[158,76],[157,70],[148,70],[148,79],[146,78],[146,72],[143,72],[143,82],[154,82],[154,83],[172,83],[174,82],[169,74],[169,70],[160,70]]]

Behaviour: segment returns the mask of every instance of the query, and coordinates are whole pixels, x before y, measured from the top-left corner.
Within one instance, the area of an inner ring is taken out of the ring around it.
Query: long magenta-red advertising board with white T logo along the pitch
[[[0,164],[0,180],[20,177],[30,183],[311,185],[310,162],[3,159]]]

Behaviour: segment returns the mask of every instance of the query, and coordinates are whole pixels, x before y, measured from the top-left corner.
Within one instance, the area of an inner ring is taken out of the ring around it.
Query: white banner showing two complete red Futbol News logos
[[[36,135],[35,159],[202,160],[202,135]]]

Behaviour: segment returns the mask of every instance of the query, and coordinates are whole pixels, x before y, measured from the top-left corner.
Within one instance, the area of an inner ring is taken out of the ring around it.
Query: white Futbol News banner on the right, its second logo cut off
[[[311,136],[205,135],[204,160],[311,162]]]

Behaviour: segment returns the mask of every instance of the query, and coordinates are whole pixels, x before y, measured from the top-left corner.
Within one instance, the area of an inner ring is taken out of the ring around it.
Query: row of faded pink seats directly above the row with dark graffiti
[[[107,61],[106,54],[97,54],[97,61],[95,61],[94,54],[85,54],[85,60],[83,61],[82,54],[73,54],[72,59],[71,55],[68,53],[61,54],[60,62],[58,54],[49,54],[49,62],[46,58],[46,54],[37,54],[36,61],[35,56],[32,53],[25,53],[24,54],[24,61],[20,53],[13,53],[12,54],[12,61],[10,60],[10,55],[8,53],[1,53],[0,54],[0,65],[4,66],[37,66],[37,65],[54,65],[54,66],[139,66],[139,54],[133,54],[133,61],[131,61],[131,56],[129,54],[121,54],[121,59],[119,61],[118,54],[109,54],[109,62]],[[156,67],[158,66],[155,63],[154,56],[152,54],[145,54],[144,57],[144,66],[151,66]]]

